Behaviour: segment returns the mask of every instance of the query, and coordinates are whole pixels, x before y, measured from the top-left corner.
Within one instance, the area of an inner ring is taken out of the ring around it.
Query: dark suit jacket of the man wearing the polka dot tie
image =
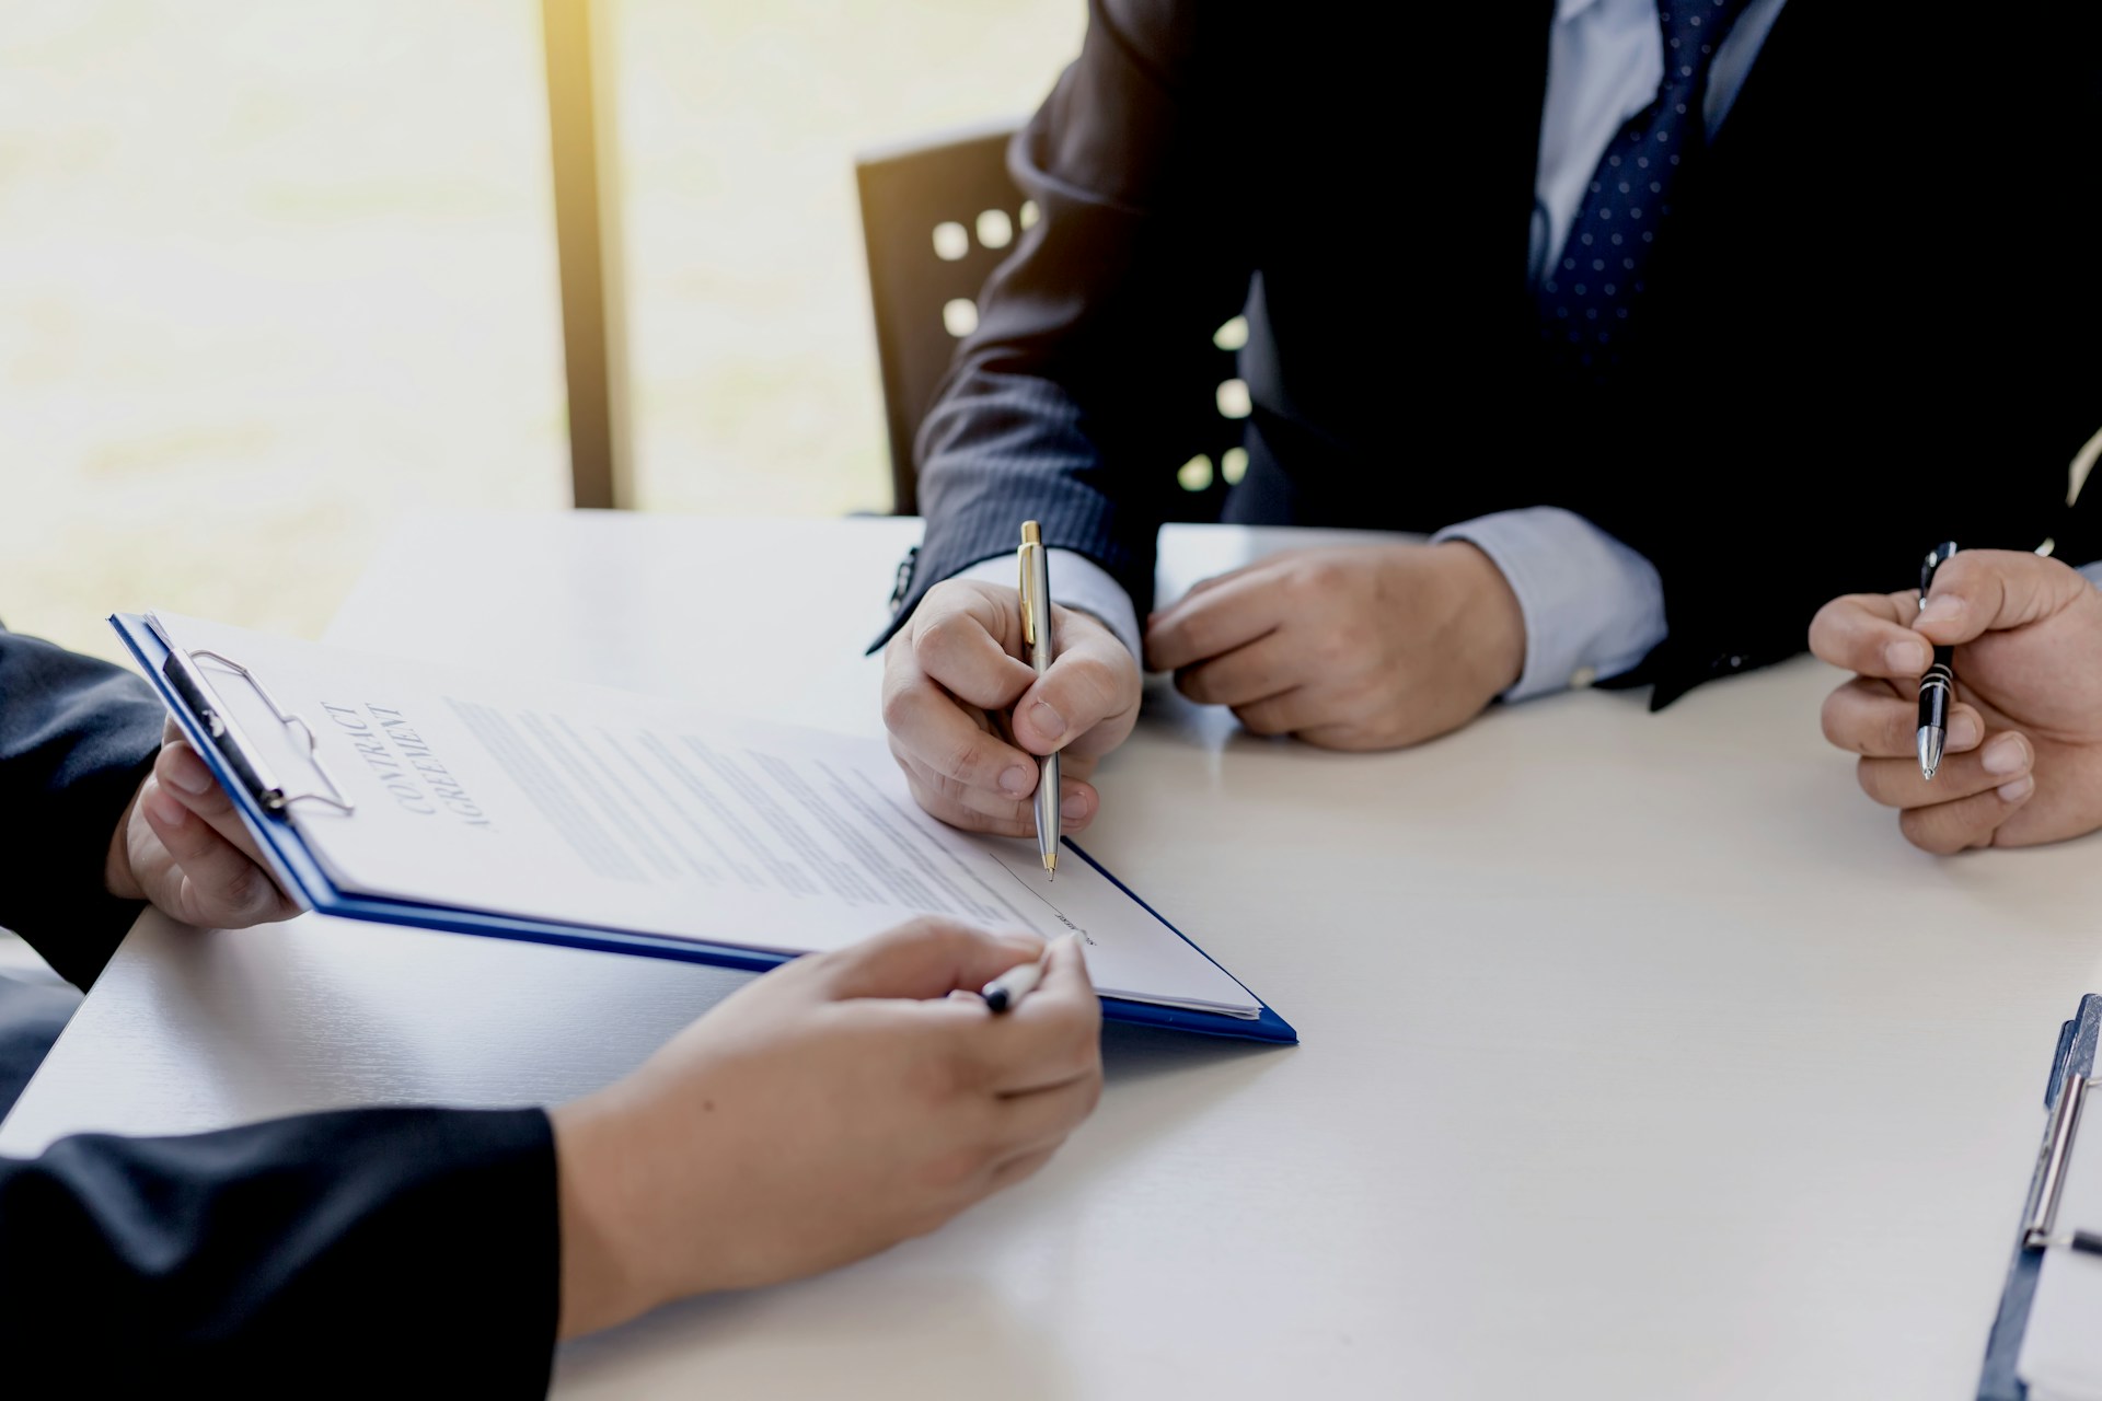
[[[1028,515],[1143,613],[1188,454],[1165,405],[1209,399],[1192,349],[1244,302],[1223,519],[1568,506],[1663,576],[1656,704],[1936,540],[2102,555],[2064,508],[2102,426],[2102,6],[1787,4],[1604,391],[1547,368],[1526,288],[1551,15],[1091,0],[1009,158],[1040,221],[921,433],[900,618]]]

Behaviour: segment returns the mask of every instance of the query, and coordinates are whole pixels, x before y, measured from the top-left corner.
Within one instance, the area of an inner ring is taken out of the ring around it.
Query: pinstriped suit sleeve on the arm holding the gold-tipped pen
[[[1200,11],[1093,0],[1080,57],[1015,137],[1009,168],[1040,214],[986,284],[921,426],[927,538],[898,620],[929,586],[1013,550],[1024,517],[1150,607],[1162,517],[1150,483],[1173,477],[1133,464],[1188,447],[1160,422],[1160,376],[1242,309],[1253,271],[1221,208],[1228,120],[1204,78],[1236,27],[1213,40]]]

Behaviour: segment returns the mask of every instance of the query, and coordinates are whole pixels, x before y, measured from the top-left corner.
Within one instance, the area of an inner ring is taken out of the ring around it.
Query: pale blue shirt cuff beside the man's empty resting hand
[[[1431,536],[1465,540],[1503,571],[1526,620],[1526,670],[1507,702],[1616,676],[1665,641],[1656,565],[1574,510],[1499,510]]]

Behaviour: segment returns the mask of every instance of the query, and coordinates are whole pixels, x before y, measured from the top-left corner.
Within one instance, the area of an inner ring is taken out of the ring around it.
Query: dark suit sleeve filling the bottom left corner
[[[538,1109],[355,1109],[0,1159],[0,1357],[76,1395],[542,1395]]]

